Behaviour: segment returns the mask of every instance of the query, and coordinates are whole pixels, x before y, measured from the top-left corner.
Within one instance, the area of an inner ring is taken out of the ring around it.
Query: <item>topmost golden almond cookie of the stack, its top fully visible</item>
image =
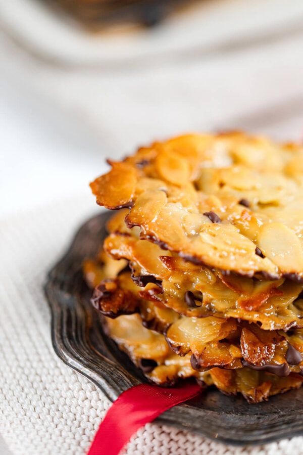
[[[189,260],[302,280],[302,154],[243,133],[187,135],[113,163],[91,186],[99,204],[132,206],[126,220],[142,238]]]

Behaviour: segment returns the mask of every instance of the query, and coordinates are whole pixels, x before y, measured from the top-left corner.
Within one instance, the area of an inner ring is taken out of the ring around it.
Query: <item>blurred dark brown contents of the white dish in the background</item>
[[[92,28],[121,22],[152,27],[186,0],[46,0]]]

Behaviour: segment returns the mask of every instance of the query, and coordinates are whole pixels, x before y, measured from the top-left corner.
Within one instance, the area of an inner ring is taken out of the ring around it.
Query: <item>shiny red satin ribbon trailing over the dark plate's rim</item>
[[[125,390],[99,426],[88,455],[118,455],[140,427],[200,392],[201,388],[194,382],[183,382],[173,388],[139,384]]]

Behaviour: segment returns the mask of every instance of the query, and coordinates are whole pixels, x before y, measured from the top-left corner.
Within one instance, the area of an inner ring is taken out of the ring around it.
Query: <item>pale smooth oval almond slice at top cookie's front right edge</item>
[[[283,273],[303,271],[302,245],[285,224],[264,224],[258,236],[258,246]]]

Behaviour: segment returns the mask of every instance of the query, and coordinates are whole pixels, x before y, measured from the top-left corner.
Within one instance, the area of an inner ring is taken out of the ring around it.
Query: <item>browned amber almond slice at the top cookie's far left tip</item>
[[[127,163],[112,163],[112,169],[96,178],[91,184],[97,204],[109,209],[120,208],[129,204],[134,196],[137,183],[136,170]]]

